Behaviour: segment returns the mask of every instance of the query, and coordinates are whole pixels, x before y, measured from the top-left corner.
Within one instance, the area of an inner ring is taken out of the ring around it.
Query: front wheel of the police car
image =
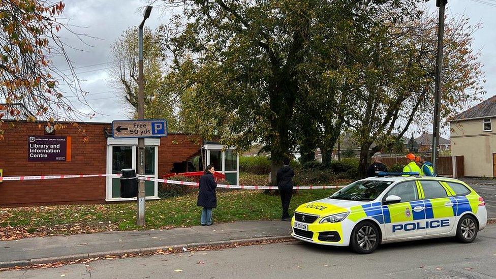
[[[364,221],[358,224],[351,233],[351,248],[358,254],[369,254],[376,250],[381,242],[381,235],[377,226]]]

